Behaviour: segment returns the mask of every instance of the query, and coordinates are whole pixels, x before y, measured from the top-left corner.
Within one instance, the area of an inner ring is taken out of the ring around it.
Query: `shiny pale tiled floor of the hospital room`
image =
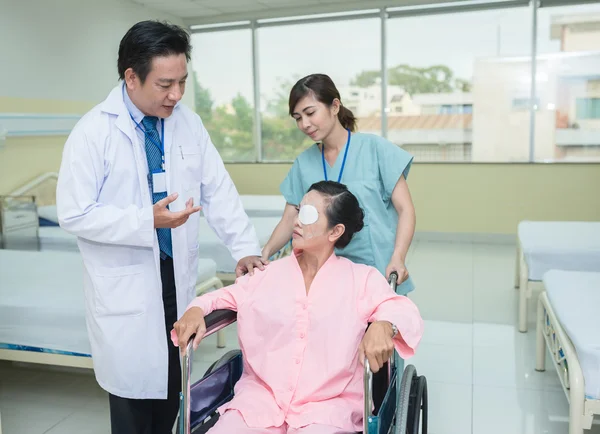
[[[408,363],[429,386],[431,434],[566,434],[568,403],[554,368],[535,365],[535,304],[530,331],[516,328],[515,248],[510,245],[418,241],[408,268],[411,298],[426,320]],[[216,338],[195,353],[195,377],[237,346]],[[3,434],[107,434],[108,403],[89,372],[0,363]],[[589,434],[599,434],[600,427]]]

